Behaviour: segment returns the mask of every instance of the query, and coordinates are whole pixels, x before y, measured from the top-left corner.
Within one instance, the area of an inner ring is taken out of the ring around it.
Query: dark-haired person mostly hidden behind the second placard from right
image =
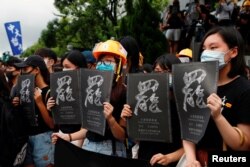
[[[182,148],[182,140],[180,136],[180,125],[177,114],[175,99],[172,89],[172,65],[179,64],[181,61],[173,54],[163,54],[159,56],[154,64],[153,69],[155,73],[169,73],[170,86],[170,110],[171,110],[171,126],[173,130],[173,143],[153,142],[153,141],[139,141],[138,159],[150,161],[152,166],[164,165],[175,167],[178,160],[184,153]],[[126,122],[127,118],[132,117],[132,110],[128,104],[124,105],[121,113],[121,118]],[[126,124],[126,123],[124,123]]]

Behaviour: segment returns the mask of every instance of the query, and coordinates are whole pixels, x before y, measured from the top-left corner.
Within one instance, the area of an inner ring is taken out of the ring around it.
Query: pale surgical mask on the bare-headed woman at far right
[[[201,62],[206,61],[218,61],[219,62],[219,69],[222,69],[227,63],[224,60],[224,56],[228,53],[222,52],[218,50],[204,50],[201,53]]]

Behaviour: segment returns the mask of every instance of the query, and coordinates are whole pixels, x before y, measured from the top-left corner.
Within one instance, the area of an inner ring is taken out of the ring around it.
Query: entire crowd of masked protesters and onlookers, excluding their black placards
[[[218,8],[229,4],[234,5],[233,1],[220,0]],[[49,48],[39,48],[25,60],[5,55],[0,68],[0,167],[54,166],[54,144],[58,138],[96,153],[147,160],[152,166],[176,166],[184,155],[187,167],[206,166],[207,162],[196,155],[199,150],[222,151],[226,146],[227,150],[249,151],[250,83],[244,59],[248,52],[243,48],[249,50],[250,4],[239,10],[236,19],[231,14],[219,16],[223,9],[216,10],[218,16],[213,16],[208,6],[196,0],[189,5],[189,11],[182,12],[179,1],[174,1],[164,14],[160,29],[170,48],[153,64],[142,63],[139,45],[131,36],[100,42],[92,50],[70,50],[60,62]],[[218,92],[207,99],[211,118],[204,138],[197,145],[181,138],[171,77],[173,64],[194,61],[192,39],[201,43],[198,61],[219,62]],[[104,136],[80,124],[57,125],[53,121],[51,109],[55,100],[50,97],[50,74],[79,68],[114,72],[110,102],[103,103],[107,122]],[[127,136],[126,122],[133,111],[126,104],[126,77],[152,72],[169,74],[173,143],[134,141]],[[35,76],[33,98],[37,119],[33,126],[21,112],[16,86],[18,77],[27,74]],[[229,98],[232,107],[222,109],[223,97]]]

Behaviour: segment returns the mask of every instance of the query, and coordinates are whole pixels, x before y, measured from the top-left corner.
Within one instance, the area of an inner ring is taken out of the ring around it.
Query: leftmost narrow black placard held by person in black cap
[[[29,124],[31,126],[38,126],[38,111],[35,110],[34,101],[34,80],[34,75],[20,75],[18,78],[17,89],[22,110],[24,111]]]

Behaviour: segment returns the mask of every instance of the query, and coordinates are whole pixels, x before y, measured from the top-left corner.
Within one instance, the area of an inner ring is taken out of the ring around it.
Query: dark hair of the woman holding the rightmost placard
[[[244,40],[237,29],[233,26],[230,27],[214,27],[210,29],[206,35],[204,36],[201,47],[199,51],[199,55],[201,55],[203,51],[204,41],[208,36],[213,34],[219,34],[222,40],[227,44],[229,49],[238,48],[238,55],[231,60],[231,70],[227,74],[229,78],[233,78],[237,75],[246,76],[246,62],[244,59]],[[200,60],[200,57],[199,57]]]

